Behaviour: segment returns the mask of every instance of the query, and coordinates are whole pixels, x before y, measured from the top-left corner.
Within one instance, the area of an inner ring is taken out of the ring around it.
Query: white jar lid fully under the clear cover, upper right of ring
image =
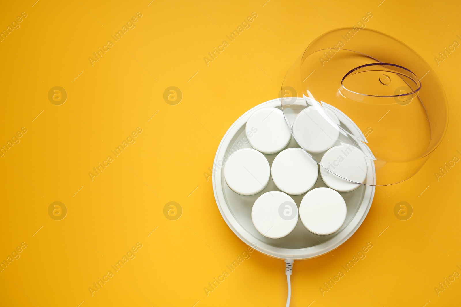
[[[317,108],[321,109],[320,106],[310,106],[303,109],[293,123],[293,135],[296,141],[302,148],[312,153],[328,150],[339,137],[336,119],[331,119],[331,115],[323,112],[325,116],[329,117],[326,119]]]

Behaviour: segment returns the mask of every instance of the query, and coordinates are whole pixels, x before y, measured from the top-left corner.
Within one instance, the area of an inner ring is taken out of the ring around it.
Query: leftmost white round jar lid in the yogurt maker
[[[251,148],[240,149],[225,162],[224,179],[232,191],[253,195],[262,191],[271,176],[266,157]]]

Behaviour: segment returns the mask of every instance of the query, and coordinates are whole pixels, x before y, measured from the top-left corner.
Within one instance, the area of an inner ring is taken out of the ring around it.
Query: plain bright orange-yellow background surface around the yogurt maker
[[[367,28],[408,44],[440,78],[450,111],[446,139],[413,178],[377,188],[346,243],[295,262],[292,306],[460,305],[461,278],[438,296],[434,290],[461,273],[461,166],[438,181],[434,174],[461,158],[461,51],[438,66],[434,60],[461,43],[459,1],[34,2],[4,3],[0,12],[0,29],[27,14],[0,42],[0,145],[27,129],[0,157],[0,260],[27,244],[0,272],[1,306],[284,306],[283,261],[256,251],[206,295],[204,287],[247,246],[222,219],[204,173],[231,124],[278,97],[309,42],[367,12]],[[135,28],[91,65],[93,52],[136,12]],[[250,28],[207,65],[208,52],[252,12]],[[64,104],[48,100],[55,86],[65,89]],[[170,86],[182,92],[179,104],[165,102]],[[89,172],[136,127],[135,143],[91,180]],[[56,201],[67,208],[62,220],[48,215]],[[183,211],[177,220],[164,215],[171,201]],[[413,208],[409,220],[394,215],[401,201]],[[89,287],[137,242],[135,258],[92,295]],[[322,296],[324,282],[368,242],[366,258]]]

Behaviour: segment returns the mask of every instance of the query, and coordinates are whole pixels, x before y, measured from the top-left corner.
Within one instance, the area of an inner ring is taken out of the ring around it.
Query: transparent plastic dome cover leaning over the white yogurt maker
[[[369,29],[319,36],[280,93],[298,145],[319,163],[324,180],[346,190],[410,178],[448,124],[445,93],[430,66],[401,41]],[[367,175],[373,165],[374,178]]]

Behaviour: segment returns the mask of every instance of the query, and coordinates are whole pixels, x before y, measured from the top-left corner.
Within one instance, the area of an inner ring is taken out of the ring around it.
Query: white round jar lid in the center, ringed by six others
[[[275,157],[271,174],[280,190],[291,195],[301,195],[313,187],[319,176],[319,168],[306,151],[289,148]]]

